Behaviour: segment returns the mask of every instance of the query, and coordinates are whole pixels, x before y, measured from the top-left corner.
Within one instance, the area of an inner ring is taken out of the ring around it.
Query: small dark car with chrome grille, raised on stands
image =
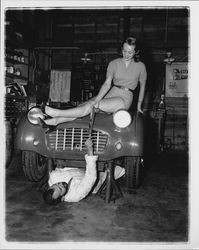
[[[56,167],[85,167],[85,141],[89,137],[90,115],[57,125],[43,126],[40,107],[32,107],[19,121],[15,148],[22,151],[25,176],[39,182]],[[108,162],[125,167],[129,192],[138,187],[143,166],[144,126],[141,113],[118,110],[114,114],[96,112],[93,120],[94,154],[98,167]]]

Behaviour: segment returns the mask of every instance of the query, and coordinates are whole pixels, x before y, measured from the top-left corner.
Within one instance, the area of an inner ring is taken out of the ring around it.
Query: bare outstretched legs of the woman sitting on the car
[[[45,120],[45,123],[48,125],[57,125],[63,122],[72,121],[76,118],[88,115],[93,106],[95,106],[93,101],[66,110],[59,110],[46,106],[46,114],[53,118]],[[125,104],[122,98],[111,97],[102,99],[98,107],[104,112],[113,113],[119,109],[125,108]]]

